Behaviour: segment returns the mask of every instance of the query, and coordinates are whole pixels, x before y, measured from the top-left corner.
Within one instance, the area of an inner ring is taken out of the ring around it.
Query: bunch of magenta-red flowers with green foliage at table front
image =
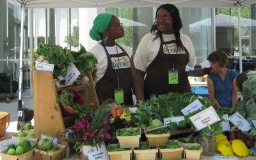
[[[110,110],[104,106],[93,106],[86,110],[87,113],[65,131],[65,141],[74,143],[74,149],[79,152],[84,145],[100,147],[106,140],[111,139],[107,121]],[[57,138],[60,139],[60,134]]]

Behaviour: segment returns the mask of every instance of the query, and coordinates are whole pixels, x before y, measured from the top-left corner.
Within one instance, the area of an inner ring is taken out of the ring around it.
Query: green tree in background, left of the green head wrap
[[[70,45],[70,36],[65,36],[64,42]],[[72,28],[71,46],[75,48],[79,46],[79,25],[74,25]]]

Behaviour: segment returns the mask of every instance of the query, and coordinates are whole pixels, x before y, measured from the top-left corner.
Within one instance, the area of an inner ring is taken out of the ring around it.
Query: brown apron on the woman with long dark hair
[[[191,86],[189,84],[188,76],[185,73],[186,65],[189,62],[189,53],[184,48],[185,54],[164,54],[166,45],[173,44],[176,47],[175,41],[163,41],[162,35],[160,35],[161,45],[156,58],[150,63],[147,68],[147,76],[145,78],[144,94],[145,100],[150,99],[150,95],[167,94],[168,92],[191,92]],[[174,69],[179,71],[179,84],[168,83],[168,69]]]

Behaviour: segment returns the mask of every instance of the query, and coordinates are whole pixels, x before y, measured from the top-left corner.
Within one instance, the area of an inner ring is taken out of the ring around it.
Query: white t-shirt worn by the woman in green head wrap
[[[102,47],[102,45],[100,45],[100,42],[101,41],[99,41],[98,44],[95,45],[93,48],[88,50],[88,52],[95,55],[95,57],[98,60],[97,69],[95,71],[95,76],[93,77],[94,84],[96,84],[100,80],[100,78],[102,78],[102,76],[104,76],[106,69],[108,67],[108,57],[107,57],[107,54],[106,54],[104,48]],[[120,45],[120,44],[118,43],[118,45]],[[129,57],[131,59],[131,57],[132,57],[131,48],[129,46],[125,46],[125,45],[120,45],[120,47],[122,47],[125,50],[125,52],[129,55]],[[117,48],[118,54],[123,52],[120,47],[115,45],[113,47],[106,47],[106,49],[108,50],[109,55],[113,55],[113,54],[116,54],[116,48]]]

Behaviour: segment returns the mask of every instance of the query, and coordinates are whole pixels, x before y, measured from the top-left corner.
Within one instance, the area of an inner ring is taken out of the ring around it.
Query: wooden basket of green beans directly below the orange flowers
[[[129,130],[129,129],[140,129],[140,127],[129,127],[124,128],[121,130]],[[119,129],[118,129],[119,130]],[[129,149],[129,148],[136,148],[140,146],[140,137],[141,137],[141,129],[140,135],[136,136],[118,136],[116,131],[116,138],[118,139],[119,145],[121,149]]]

